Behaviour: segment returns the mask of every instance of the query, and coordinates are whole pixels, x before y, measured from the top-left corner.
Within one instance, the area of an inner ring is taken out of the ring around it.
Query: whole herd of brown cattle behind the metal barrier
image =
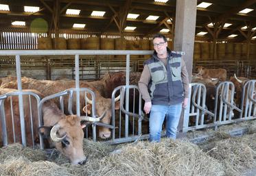
[[[130,85],[137,85],[140,73],[130,73]],[[205,84],[207,88],[207,108],[213,110],[214,97],[216,94],[216,86],[220,81],[226,81],[226,70],[224,69],[206,69],[198,66],[198,73],[192,76],[191,82],[198,82]],[[241,102],[242,86],[246,81],[245,77],[231,77],[230,81],[235,85],[237,104]],[[21,84],[23,91],[34,92],[39,95],[41,99],[49,95],[54,95],[63,90],[69,88],[75,88],[75,81],[73,80],[37,80],[27,77],[21,78]],[[111,95],[113,90],[117,86],[126,84],[126,73],[112,73],[106,74],[99,81],[80,81],[80,88],[90,88],[95,93],[95,110],[98,118],[91,118],[89,115],[92,112],[91,95],[80,94],[80,113],[82,116],[69,115],[66,112],[62,112],[59,109],[59,102],[55,99],[47,101],[43,104],[42,116],[43,126],[37,128],[35,126],[34,136],[38,136],[38,132],[42,134],[44,138],[51,146],[56,147],[58,151],[62,152],[69,158],[72,164],[84,164],[86,157],[82,151],[82,139],[84,138],[83,128],[95,121],[101,121],[105,124],[110,124],[111,121]],[[8,92],[15,92],[17,89],[16,77],[3,77],[0,79],[0,95],[4,95]],[[137,97],[137,96],[135,96]],[[29,100],[30,99],[30,100]],[[12,102],[11,102],[12,101]],[[75,99],[73,99],[75,102]],[[75,106],[75,103],[73,103]],[[64,101],[64,106],[68,106],[68,101]],[[36,99],[26,95],[23,96],[23,110],[24,118],[26,121],[25,131],[31,131],[29,128],[31,124],[38,125],[38,108]],[[119,97],[115,99],[115,110],[120,108]],[[18,97],[8,97],[4,101],[5,120],[7,126],[7,134],[9,142],[13,141],[13,129],[12,124],[20,128],[19,121],[19,99]],[[32,109],[32,111],[31,111]],[[75,107],[73,107],[75,110]],[[32,116],[34,119],[30,119]],[[0,114],[1,115],[1,114]],[[14,122],[12,120],[14,116]],[[1,131],[0,121],[0,131]],[[16,142],[21,141],[21,131],[15,131]],[[98,136],[100,138],[110,138],[111,131],[106,127],[98,128]],[[0,136],[0,144],[2,142],[2,136]],[[32,139],[27,138],[27,144],[31,144]]]

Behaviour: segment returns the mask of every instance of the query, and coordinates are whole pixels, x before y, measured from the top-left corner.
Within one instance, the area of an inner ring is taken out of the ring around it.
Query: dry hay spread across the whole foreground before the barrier
[[[57,151],[47,154],[10,144],[0,149],[0,176],[245,175],[246,169],[256,167],[255,124],[240,124],[250,129],[245,136],[231,137],[219,129],[208,142],[198,145],[166,138],[159,143],[139,141],[119,146],[84,140],[84,153],[89,159],[83,166],[69,164]]]

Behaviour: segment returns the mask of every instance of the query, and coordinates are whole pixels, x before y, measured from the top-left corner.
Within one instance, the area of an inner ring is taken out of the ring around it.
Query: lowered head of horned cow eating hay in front
[[[86,157],[83,151],[84,132],[82,121],[100,121],[100,118],[75,115],[61,118],[53,127],[40,127],[40,134],[51,138],[53,145],[65,155],[71,164],[85,164]]]

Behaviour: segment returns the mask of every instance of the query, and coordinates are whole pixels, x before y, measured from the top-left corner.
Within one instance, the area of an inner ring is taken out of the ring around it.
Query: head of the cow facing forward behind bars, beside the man
[[[115,110],[119,110],[119,99],[120,97],[115,98]],[[87,114],[91,114],[91,108],[92,108],[92,101],[89,99],[89,97],[86,97],[87,105],[84,106],[83,111]],[[103,97],[97,97],[95,102],[95,108],[96,108],[96,114],[97,116],[102,116],[102,114],[105,114],[104,118],[102,118],[101,122],[110,124],[111,116],[112,116],[112,108],[111,108],[111,99],[105,99]],[[99,127],[99,136],[102,139],[110,138],[111,131],[110,129],[106,127]]]

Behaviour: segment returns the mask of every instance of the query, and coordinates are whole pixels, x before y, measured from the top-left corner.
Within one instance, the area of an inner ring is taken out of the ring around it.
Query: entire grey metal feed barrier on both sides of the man
[[[108,127],[112,131],[111,139],[106,141],[111,144],[120,143],[120,142],[129,142],[137,139],[144,139],[148,138],[147,133],[143,133],[143,121],[146,120],[146,117],[143,116],[141,112],[141,95],[137,86],[130,86],[129,85],[129,77],[130,77],[130,55],[146,55],[150,54],[152,51],[0,51],[0,55],[15,55],[16,57],[16,76],[17,76],[17,83],[18,83],[18,91],[15,92],[15,95],[19,97],[19,114],[21,118],[21,134],[22,134],[22,144],[26,146],[25,140],[25,122],[24,122],[24,113],[23,113],[23,95],[24,92],[22,91],[21,85],[21,64],[20,64],[20,55],[75,55],[75,88],[65,90],[60,92],[56,95],[51,95],[49,97],[45,97],[45,99],[38,99],[38,108],[40,109],[43,102],[47,101],[47,99],[53,99],[59,97],[60,99],[60,108],[64,110],[63,105],[63,96],[69,95],[69,99],[73,99],[73,95],[75,93],[79,94],[81,91],[88,91],[91,93],[92,97],[94,96],[91,90],[79,87],[79,55],[126,55],[126,86],[119,86],[113,91],[112,95],[112,123],[111,124],[102,124],[102,123],[95,123],[93,124],[93,140],[97,140],[97,136],[95,134],[95,129],[97,126]],[[206,104],[206,95],[207,91],[203,84],[190,84],[189,85],[189,99],[191,103],[189,103],[187,109],[185,110],[185,116],[183,121],[183,131],[189,131],[194,129],[202,129],[207,127],[215,127],[217,128],[219,125],[225,125],[228,123],[235,123],[237,121],[244,121],[244,120],[251,120],[255,118],[255,80],[248,81],[244,85],[243,95],[242,95],[242,105],[240,108],[237,107],[233,103],[233,97],[235,90],[233,88],[233,84],[229,81],[222,82],[216,88],[216,103],[215,109],[213,112],[207,110]],[[130,98],[130,93],[133,91],[133,98]],[[137,93],[136,93],[137,92]],[[115,102],[113,97],[116,94],[121,94],[120,100],[120,107],[119,112],[115,110]],[[135,99],[135,95],[138,94],[139,100]],[[3,101],[7,97],[12,96],[10,95],[1,95],[1,122],[2,122],[2,129],[5,129],[5,124],[3,123],[5,120],[4,117],[4,106]],[[80,96],[76,96],[76,114],[80,116]],[[135,110],[135,104],[137,101],[138,110]],[[68,112],[69,114],[74,114],[72,107],[72,101],[69,102]],[[129,107],[129,104],[133,102],[133,105]],[[139,102],[139,103],[138,103]],[[244,103],[245,102],[245,103]],[[95,103],[95,102],[94,102]],[[124,108],[125,103],[125,108]],[[244,106],[243,106],[244,104]],[[93,117],[95,117],[95,108],[93,110]],[[233,116],[231,113],[235,111],[238,113],[238,116]],[[40,116],[40,114],[39,114]],[[209,116],[209,120],[205,121],[205,117]],[[190,121],[189,120],[193,120]],[[39,119],[40,120],[40,119]],[[40,121],[41,122],[41,121]],[[119,122],[118,124],[116,122]],[[148,123],[148,122],[146,122]],[[41,124],[41,123],[40,123]],[[40,125],[39,124],[39,125]],[[3,141],[5,141],[6,134],[3,135]],[[8,144],[8,142],[4,142],[4,144]],[[43,146],[40,146],[43,148]]]

